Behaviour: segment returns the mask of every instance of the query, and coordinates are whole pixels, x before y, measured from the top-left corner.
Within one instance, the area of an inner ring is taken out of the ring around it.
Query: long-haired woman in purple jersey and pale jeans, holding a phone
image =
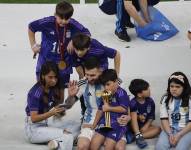
[[[40,80],[28,93],[25,132],[31,143],[48,143],[49,149],[72,150],[71,133],[79,129],[79,126],[68,126],[68,122],[64,123],[61,120],[59,127],[48,124],[48,118],[65,112],[55,97],[58,76],[59,71],[55,63],[46,62],[42,65]]]

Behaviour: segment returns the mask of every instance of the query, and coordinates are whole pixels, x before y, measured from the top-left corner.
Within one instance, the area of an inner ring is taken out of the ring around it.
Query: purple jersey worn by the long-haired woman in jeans
[[[43,114],[44,111],[48,111],[53,103],[53,91],[50,90],[48,93],[48,102],[47,104],[43,103],[43,96],[45,93],[43,92],[42,86],[40,83],[36,83],[29,91],[27,96],[27,106],[26,106],[26,114],[30,116],[31,111],[38,111],[38,114]]]

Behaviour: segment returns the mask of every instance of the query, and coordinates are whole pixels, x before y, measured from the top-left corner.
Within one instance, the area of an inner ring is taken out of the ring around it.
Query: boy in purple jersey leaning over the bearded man
[[[120,53],[117,50],[112,48],[103,46],[96,39],[91,39],[88,35],[79,33],[76,34],[72,38],[72,43],[74,46],[74,66],[81,68],[84,63],[84,60],[91,56],[95,56],[100,60],[102,70],[108,69],[108,58],[114,59],[114,68],[119,75],[120,71]],[[83,71],[79,71],[78,73],[81,77],[83,77]]]

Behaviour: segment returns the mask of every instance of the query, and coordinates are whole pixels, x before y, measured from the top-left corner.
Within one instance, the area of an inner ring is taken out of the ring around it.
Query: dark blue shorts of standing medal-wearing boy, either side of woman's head
[[[36,78],[37,78],[37,81],[40,80],[40,72],[36,72]],[[69,81],[70,81],[70,74],[60,75],[60,78],[59,78],[59,86],[60,86],[60,88],[61,89],[67,88]]]

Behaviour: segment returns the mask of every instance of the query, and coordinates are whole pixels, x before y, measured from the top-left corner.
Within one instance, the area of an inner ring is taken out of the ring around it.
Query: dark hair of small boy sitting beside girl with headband
[[[129,85],[129,91],[137,97],[138,93],[149,88],[149,83],[143,79],[134,79]]]

